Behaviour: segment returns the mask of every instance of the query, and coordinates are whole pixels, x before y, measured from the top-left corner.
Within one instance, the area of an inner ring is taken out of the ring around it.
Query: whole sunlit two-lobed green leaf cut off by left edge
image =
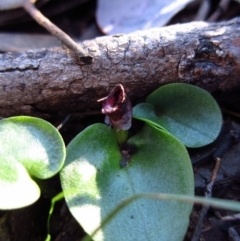
[[[65,152],[59,132],[50,123],[27,116],[1,120],[0,209],[36,201],[40,191],[30,176],[46,179],[55,175],[63,166]]]

